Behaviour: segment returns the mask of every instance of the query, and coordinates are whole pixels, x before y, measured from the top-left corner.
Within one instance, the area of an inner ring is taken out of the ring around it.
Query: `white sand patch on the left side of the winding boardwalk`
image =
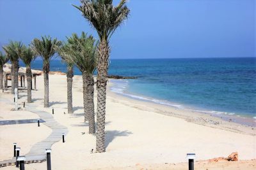
[[[39,118],[29,111],[10,111],[14,108],[10,104],[0,103],[0,108],[0,121]],[[0,160],[12,159],[13,143],[20,147],[20,155],[25,155],[31,146],[47,138],[49,134],[51,129],[44,124],[40,124],[40,127],[37,124],[0,125]]]

